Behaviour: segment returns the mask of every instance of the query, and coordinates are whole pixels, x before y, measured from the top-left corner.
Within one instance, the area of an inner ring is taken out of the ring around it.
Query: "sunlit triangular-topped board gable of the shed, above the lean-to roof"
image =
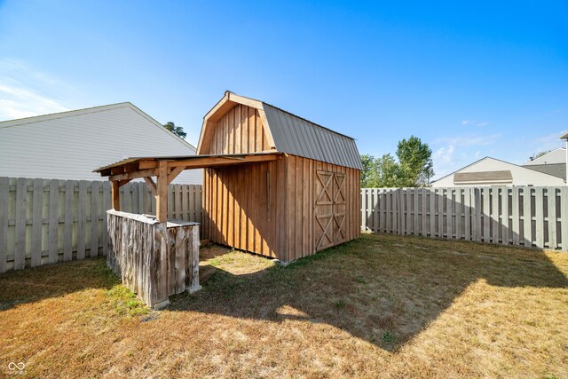
[[[270,150],[260,114],[253,107],[239,104],[213,126],[209,148],[201,154],[243,154]]]

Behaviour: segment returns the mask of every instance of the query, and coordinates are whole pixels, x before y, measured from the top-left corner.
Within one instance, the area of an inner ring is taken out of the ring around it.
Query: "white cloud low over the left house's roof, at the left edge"
[[[0,60],[0,120],[67,110],[51,95],[59,83],[13,59]]]

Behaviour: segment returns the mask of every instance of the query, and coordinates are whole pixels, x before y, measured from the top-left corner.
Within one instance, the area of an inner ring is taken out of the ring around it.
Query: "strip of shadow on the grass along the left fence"
[[[104,257],[0,274],[0,315],[18,304],[64,296],[86,288],[113,288],[120,280]],[[1,316],[0,316],[1,317]]]

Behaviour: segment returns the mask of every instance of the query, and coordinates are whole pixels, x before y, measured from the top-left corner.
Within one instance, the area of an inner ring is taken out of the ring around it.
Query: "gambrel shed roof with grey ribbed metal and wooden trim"
[[[203,118],[197,154],[206,151],[204,146],[209,144],[215,122],[237,104],[258,110],[268,145],[272,150],[362,170],[359,151],[353,138],[263,101],[245,98],[230,91],[226,91],[223,99]]]

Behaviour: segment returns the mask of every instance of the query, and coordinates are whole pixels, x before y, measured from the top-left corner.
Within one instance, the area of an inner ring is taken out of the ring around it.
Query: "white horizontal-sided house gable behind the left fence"
[[[0,177],[103,180],[92,170],[124,158],[193,154],[130,103],[0,122]],[[202,170],[174,183],[201,185]]]

